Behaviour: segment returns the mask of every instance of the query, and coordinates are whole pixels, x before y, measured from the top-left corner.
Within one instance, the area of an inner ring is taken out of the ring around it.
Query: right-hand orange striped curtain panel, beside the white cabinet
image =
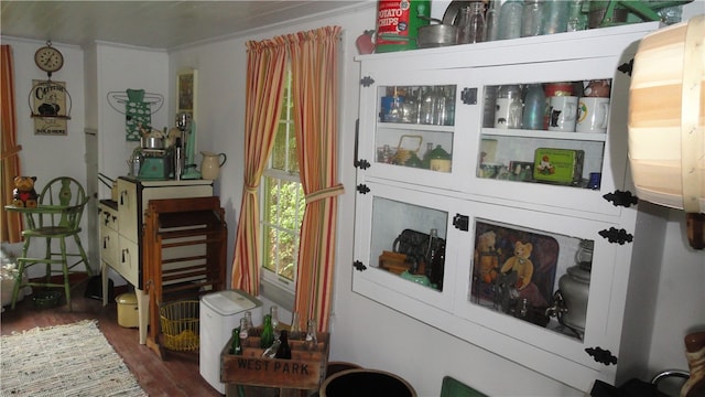
[[[306,210],[301,227],[294,310],[327,331],[333,298],[338,198],[338,43],[340,26],[288,36],[294,130]]]

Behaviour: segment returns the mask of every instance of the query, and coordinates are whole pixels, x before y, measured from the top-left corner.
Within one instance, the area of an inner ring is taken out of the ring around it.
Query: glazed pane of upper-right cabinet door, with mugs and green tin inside
[[[599,189],[611,79],[485,88],[477,176]]]

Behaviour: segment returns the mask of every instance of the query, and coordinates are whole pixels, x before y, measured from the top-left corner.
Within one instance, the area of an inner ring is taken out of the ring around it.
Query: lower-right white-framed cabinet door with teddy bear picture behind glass
[[[599,232],[610,225],[492,204],[474,210],[458,314],[590,362],[585,348],[605,340],[608,298],[600,291],[611,288],[616,251]]]

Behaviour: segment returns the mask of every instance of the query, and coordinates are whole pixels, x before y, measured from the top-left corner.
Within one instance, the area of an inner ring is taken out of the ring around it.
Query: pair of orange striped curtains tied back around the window
[[[294,130],[306,208],[301,228],[294,311],[328,329],[335,270],[338,47],[340,26],[248,42],[245,186],[238,223],[234,288],[259,294],[261,258],[258,189],[281,115],[286,57],[292,69]],[[305,324],[300,324],[303,329]]]

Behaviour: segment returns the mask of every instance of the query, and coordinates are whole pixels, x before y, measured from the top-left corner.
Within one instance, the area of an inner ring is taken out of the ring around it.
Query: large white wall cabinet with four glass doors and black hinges
[[[661,230],[627,176],[629,61],[654,29],[360,56],[354,291],[579,389],[621,376],[644,354],[622,343],[633,246]],[[575,126],[589,93],[606,130]]]

